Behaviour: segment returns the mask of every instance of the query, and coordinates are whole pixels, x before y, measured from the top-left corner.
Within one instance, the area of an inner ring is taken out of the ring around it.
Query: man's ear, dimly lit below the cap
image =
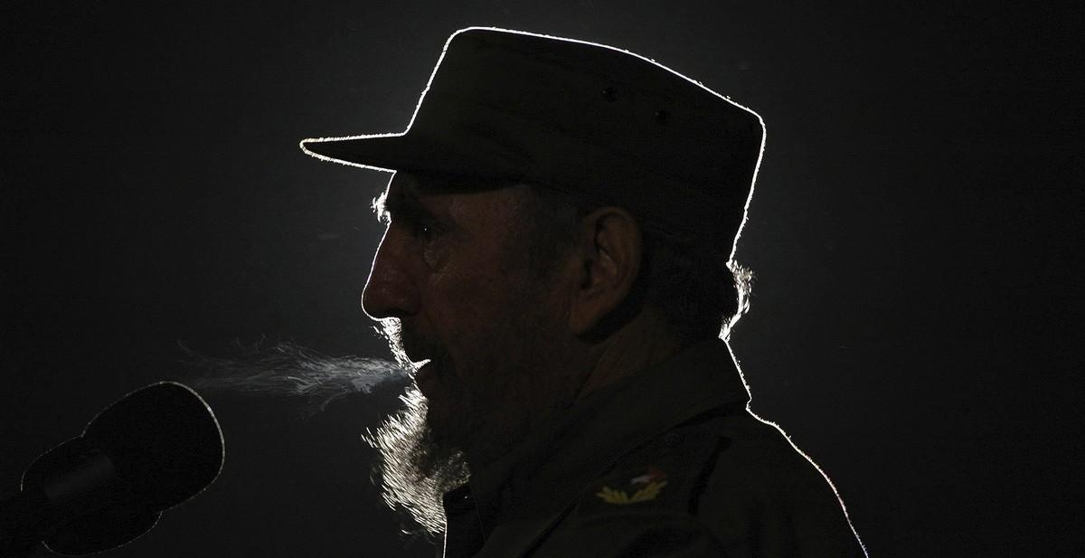
[[[629,295],[640,272],[640,226],[621,207],[600,207],[580,220],[577,283],[570,330],[587,333]]]

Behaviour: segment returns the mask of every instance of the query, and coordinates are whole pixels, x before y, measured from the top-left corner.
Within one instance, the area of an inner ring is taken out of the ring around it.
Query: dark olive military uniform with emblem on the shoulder
[[[446,494],[445,558],[863,557],[832,487],[748,402],[720,340],[595,394]]]

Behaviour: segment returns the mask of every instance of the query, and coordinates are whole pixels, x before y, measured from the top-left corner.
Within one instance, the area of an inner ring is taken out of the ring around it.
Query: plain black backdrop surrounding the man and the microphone
[[[178,341],[387,356],[357,303],[387,175],[296,143],[401,130],[447,36],[494,25],[629,49],[765,118],[732,346],[871,556],[1082,555],[1083,9],[763,4],[4,2],[0,494],[186,378]],[[359,439],[395,393],[308,419],[208,394],[221,477],[110,556],[429,556]]]

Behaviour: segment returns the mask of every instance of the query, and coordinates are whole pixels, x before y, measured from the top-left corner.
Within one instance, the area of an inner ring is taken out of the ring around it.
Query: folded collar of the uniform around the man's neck
[[[473,469],[470,492],[483,531],[567,505],[626,452],[750,394],[727,344],[694,343],[667,360],[577,402],[512,452]]]

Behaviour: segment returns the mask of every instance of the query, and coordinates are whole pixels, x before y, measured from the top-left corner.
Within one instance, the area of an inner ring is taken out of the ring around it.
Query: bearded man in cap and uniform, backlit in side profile
[[[763,143],[647,59],[490,28],[407,131],[302,142],[396,172],[362,306],[416,371],[371,442],[444,556],[864,556],[720,339]]]

